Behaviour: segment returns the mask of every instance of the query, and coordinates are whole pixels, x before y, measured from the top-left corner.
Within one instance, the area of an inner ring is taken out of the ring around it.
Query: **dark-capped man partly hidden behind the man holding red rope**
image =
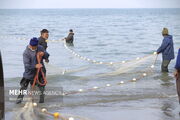
[[[41,30],[41,36],[38,38],[38,44],[43,46],[44,49],[47,52],[47,40],[49,38],[49,31],[47,29],[42,29]],[[48,52],[47,52],[48,53]],[[49,62],[49,59],[45,60],[47,63]]]

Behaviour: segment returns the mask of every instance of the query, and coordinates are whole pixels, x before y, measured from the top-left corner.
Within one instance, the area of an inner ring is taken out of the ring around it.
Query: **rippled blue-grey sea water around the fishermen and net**
[[[19,86],[24,70],[23,50],[28,39],[38,37],[43,28],[50,31],[50,40],[66,37],[68,30],[73,28],[75,47],[71,49],[103,62],[133,60],[153,53],[161,44],[163,27],[169,28],[174,37],[176,54],[180,45],[180,9],[0,10],[0,21],[6,87]],[[150,57],[140,63],[133,61],[111,67],[80,60],[61,42],[49,42],[48,51],[51,56],[47,65],[47,88],[62,87],[64,91],[116,84],[122,80],[126,82],[147,72],[146,68],[154,60]],[[161,56],[154,72],[136,83],[69,95],[63,98],[63,104],[59,98],[54,98],[57,102],[47,98],[46,104],[39,108],[92,120],[178,120],[180,110],[173,77],[175,60],[169,66],[169,74],[160,72],[160,64]],[[64,70],[69,71],[63,75]],[[106,74],[112,72],[113,75]],[[6,119],[12,119],[16,115],[14,110],[23,105],[7,101]],[[38,116],[38,119],[45,118]],[[53,118],[48,116],[47,119]]]

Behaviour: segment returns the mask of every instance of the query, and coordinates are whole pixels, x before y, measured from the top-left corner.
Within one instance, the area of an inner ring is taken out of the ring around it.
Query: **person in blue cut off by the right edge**
[[[177,94],[179,97],[179,104],[180,104],[180,48],[176,60],[176,65],[175,65],[175,77],[176,77],[176,87],[177,87]]]

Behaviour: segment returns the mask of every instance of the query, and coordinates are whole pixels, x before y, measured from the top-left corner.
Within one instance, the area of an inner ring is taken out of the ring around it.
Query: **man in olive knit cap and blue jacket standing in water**
[[[168,29],[163,28],[162,35],[164,37],[163,42],[159,49],[157,50],[157,54],[162,53],[162,65],[161,71],[162,72],[169,72],[168,65],[170,64],[171,60],[174,59],[174,43],[172,35],[169,35]]]

